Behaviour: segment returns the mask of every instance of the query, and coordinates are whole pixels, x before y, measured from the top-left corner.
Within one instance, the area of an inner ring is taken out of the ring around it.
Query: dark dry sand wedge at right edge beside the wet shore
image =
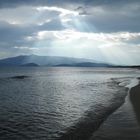
[[[132,102],[138,123],[140,125],[140,84],[130,90],[130,101]]]

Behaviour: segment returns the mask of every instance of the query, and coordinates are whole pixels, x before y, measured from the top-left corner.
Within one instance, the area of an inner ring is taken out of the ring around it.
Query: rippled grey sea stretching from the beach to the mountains
[[[0,68],[0,140],[88,140],[127,95],[111,78],[139,74],[132,69]],[[21,75],[28,77],[12,78]]]

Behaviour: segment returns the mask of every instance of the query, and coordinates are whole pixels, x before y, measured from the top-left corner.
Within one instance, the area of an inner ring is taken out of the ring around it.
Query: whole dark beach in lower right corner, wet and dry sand
[[[111,114],[90,140],[140,139],[140,84],[130,88],[125,103]]]

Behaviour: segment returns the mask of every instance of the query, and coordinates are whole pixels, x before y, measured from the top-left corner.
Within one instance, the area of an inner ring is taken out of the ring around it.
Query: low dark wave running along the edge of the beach
[[[113,82],[112,82],[113,81]],[[118,85],[118,79],[113,79],[110,86],[118,89],[118,93],[108,102],[97,103],[91,106],[79,121],[68,128],[65,133],[60,134],[58,140],[88,140],[100,125],[117,110],[124,102],[128,93],[128,88]]]

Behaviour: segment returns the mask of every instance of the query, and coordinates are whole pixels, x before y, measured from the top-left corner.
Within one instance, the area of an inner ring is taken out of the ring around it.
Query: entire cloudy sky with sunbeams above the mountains
[[[0,0],[0,59],[88,58],[140,65],[140,0]]]

